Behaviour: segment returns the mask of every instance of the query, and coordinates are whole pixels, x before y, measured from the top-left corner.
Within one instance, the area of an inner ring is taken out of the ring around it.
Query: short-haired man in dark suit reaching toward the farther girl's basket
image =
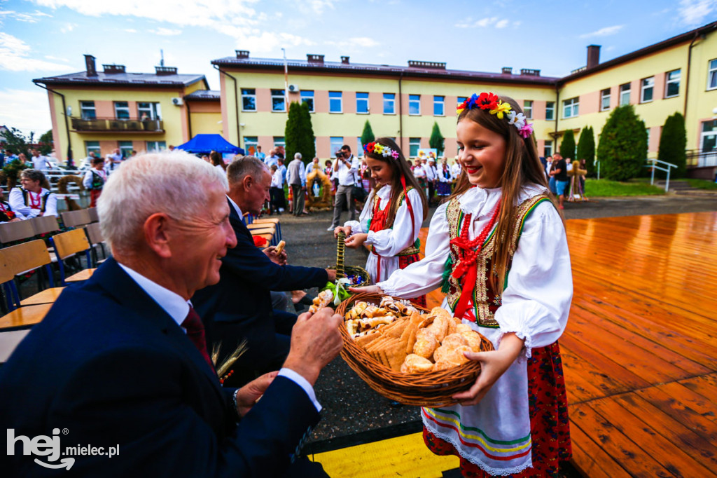
[[[286,265],[275,248],[266,253],[254,245],[244,225],[244,212],[258,214],[269,197],[271,174],[254,156],[244,156],[227,167],[229,223],[237,247],[222,258],[219,283],[198,291],[192,301],[204,324],[209,343],[222,343],[220,359],[247,340],[247,352],[234,362],[234,374],[225,384],[242,385],[256,375],[275,370],[289,351],[296,315],[272,310],[270,291],[293,291],[323,286],[336,280],[336,271]]]

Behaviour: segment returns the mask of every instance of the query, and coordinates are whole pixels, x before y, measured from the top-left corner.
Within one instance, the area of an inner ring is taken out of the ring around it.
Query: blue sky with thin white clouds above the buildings
[[[0,0],[0,124],[25,133],[50,126],[47,95],[33,78],[84,70],[85,53],[130,72],[165,65],[206,75],[210,61],[252,57],[497,72],[536,68],[564,76],[717,19],[717,0]]]

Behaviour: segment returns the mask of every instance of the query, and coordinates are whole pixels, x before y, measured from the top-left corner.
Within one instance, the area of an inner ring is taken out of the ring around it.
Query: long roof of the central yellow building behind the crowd
[[[316,56],[316,55],[310,55]],[[321,55],[319,55],[321,56]],[[324,62],[323,57],[320,61],[310,60],[287,60],[287,65],[292,70],[304,70],[306,72],[337,72],[337,73],[353,73],[353,74],[377,74],[404,77],[424,77],[424,78],[455,78],[465,80],[482,80],[487,83],[526,83],[531,85],[554,85],[559,78],[539,76],[538,70],[525,70],[533,74],[511,74],[511,73],[491,73],[476,72],[469,70],[447,70],[445,63],[432,62],[409,62],[424,66],[408,67],[391,66],[391,65],[371,65],[368,63],[348,63],[348,62]],[[283,70],[284,60],[275,58],[237,58],[224,57],[212,60],[212,65],[219,67],[241,67],[245,69],[255,70]],[[442,65],[442,66],[441,66]],[[538,73],[536,75],[535,73]]]

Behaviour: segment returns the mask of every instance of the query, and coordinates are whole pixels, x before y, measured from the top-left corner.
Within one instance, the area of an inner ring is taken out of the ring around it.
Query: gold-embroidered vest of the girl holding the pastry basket
[[[505,271],[506,285],[508,282],[508,271],[511,268],[510,261],[512,261],[513,254],[516,253],[516,249],[518,248],[518,240],[521,238],[523,224],[526,218],[531,214],[531,212],[533,212],[535,207],[543,201],[550,202],[550,199],[547,195],[541,194],[533,196],[518,205],[518,209],[516,211],[516,226],[511,233],[511,244],[508,249],[509,263],[508,268],[506,268]],[[463,222],[463,212],[460,210],[460,203],[458,202],[457,197],[450,200],[448,203],[446,208],[446,218],[448,220],[450,238],[457,238],[458,235],[460,235],[460,228]],[[473,297],[471,298],[473,301],[475,322],[480,325],[480,327],[490,327],[494,329],[498,328],[498,322],[495,322],[494,318],[495,311],[498,310],[498,307],[500,307],[501,304],[500,294],[493,290],[491,281],[488,280],[488,273],[490,272],[491,266],[490,258],[493,256],[493,251],[495,250],[495,241],[496,238],[494,228],[488,236],[488,239],[485,240],[483,249],[480,251],[475,264],[475,266],[478,267],[478,276],[475,283],[475,289],[473,289]],[[455,245],[450,245],[450,257],[446,265],[447,268],[449,263],[450,268],[452,269],[452,265],[458,262],[458,258],[460,257],[459,252],[460,251]],[[444,281],[447,281],[447,283],[444,283],[444,289],[447,290],[444,291],[446,292],[448,306],[450,306],[451,311],[454,311],[455,306],[458,304],[458,299],[460,299],[462,288],[460,281],[450,275],[450,271],[448,272],[447,278],[444,279]],[[493,274],[495,276],[498,275],[497,272],[494,272]]]

